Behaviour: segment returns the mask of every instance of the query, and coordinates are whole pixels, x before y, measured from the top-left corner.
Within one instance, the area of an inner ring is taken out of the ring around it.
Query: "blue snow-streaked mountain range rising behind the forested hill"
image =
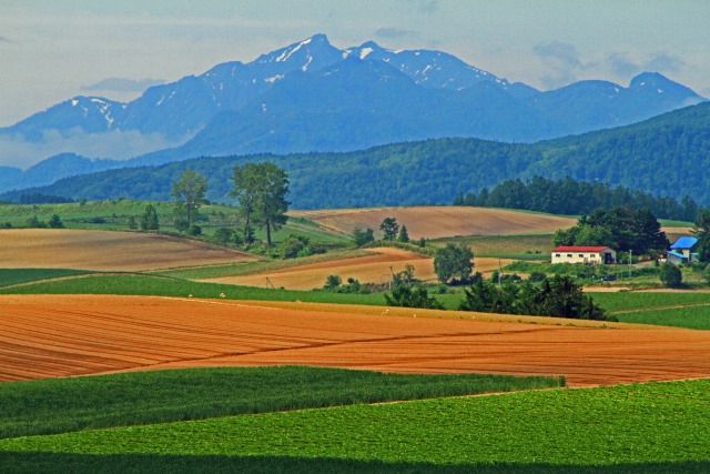
[[[629,87],[581,81],[538,91],[442,51],[393,51],[372,41],[338,49],[316,34],[248,63],[226,62],[151,87],[129,103],[75,97],[0,129],[0,139],[38,144],[112,132],[182,143],[125,161],[62,153],[24,172],[6,168],[0,190],[201,155],[344,152],[437,138],[535,142],[636,123],[703,100],[653,72]]]

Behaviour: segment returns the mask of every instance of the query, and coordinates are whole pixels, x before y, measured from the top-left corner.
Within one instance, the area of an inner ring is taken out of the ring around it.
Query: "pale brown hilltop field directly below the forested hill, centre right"
[[[414,206],[291,211],[290,215],[317,222],[323,228],[352,233],[355,228],[379,229],[385,218],[406,225],[409,238],[440,239],[456,235],[551,234],[577,222],[572,218],[532,214],[489,208]]]

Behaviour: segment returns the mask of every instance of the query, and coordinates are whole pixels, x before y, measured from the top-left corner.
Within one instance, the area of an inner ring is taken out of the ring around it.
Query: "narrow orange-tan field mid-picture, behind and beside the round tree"
[[[372,249],[373,255],[353,259],[332,260],[310,263],[270,272],[244,276],[225,276],[205,280],[213,283],[227,283],[244,286],[270,286],[287,290],[313,290],[323,288],[328,275],[339,275],[343,283],[353,278],[361,283],[387,283],[392,272],[400,272],[405,265],[414,266],[415,278],[423,281],[436,281],[434,260],[414,252],[393,248]],[[498,269],[498,259],[475,259],[475,271],[488,274]],[[511,260],[501,260],[504,266]],[[392,268],[392,272],[390,269]],[[268,279],[268,280],[266,280]]]

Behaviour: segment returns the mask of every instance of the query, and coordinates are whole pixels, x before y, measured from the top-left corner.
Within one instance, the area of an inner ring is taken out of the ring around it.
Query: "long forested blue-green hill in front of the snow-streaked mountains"
[[[234,165],[273,161],[291,180],[293,208],[348,208],[450,203],[505,180],[571,177],[710,204],[710,103],[619,129],[509,144],[476,139],[398,143],[347,153],[196,158],[61,180],[26,192],[72,199],[169,200],[171,181],[185,169],[207,178],[213,201],[227,201]]]

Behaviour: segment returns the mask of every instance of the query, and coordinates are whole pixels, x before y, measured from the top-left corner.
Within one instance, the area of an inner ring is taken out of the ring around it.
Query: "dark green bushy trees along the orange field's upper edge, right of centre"
[[[465,300],[459,309],[484,313],[607,320],[605,310],[595,304],[569,276],[545,279],[539,285],[530,282],[499,285],[477,278],[465,290]]]

